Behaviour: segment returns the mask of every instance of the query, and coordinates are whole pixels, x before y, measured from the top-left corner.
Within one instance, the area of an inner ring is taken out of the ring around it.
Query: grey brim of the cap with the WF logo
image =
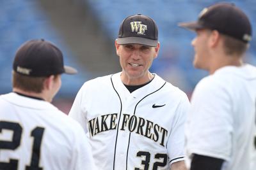
[[[157,46],[158,40],[141,38],[141,37],[124,37],[124,38],[117,38],[116,43],[118,43],[118,45],[139,44],[139,45],[147,45],[147,46]]]

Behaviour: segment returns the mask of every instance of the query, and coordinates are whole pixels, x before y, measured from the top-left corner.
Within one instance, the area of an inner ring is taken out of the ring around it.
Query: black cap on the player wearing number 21
[[[73,67],[63,65],[61,50],[44,39],[32,39],[20,46],[13,61],[13,71],[26,76],[77,73]]]

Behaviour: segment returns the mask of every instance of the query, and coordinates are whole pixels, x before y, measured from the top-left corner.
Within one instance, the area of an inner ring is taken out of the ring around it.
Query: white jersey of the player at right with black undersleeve
[[[193,92],[185,128],[188,156],[223,159],[223,170],[250,169],[250,161],[256,161],[255,107],[256,67],[225,66],[202,79]]]

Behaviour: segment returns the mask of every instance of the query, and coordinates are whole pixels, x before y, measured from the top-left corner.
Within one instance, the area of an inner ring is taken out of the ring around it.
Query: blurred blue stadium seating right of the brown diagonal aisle
[[[86,0],[84,0],[86,1]],[[252,26],[256,28],[256,1],[254,0],[227,0],[235,3],[243,9],[251,19]],[[177,67],[184,71],[184,77],[188,83],[186,92],[193,90],[196,83],[205,76],[205,71],[193,68],[193,48],[191,40],[195,36],[192,32],[181,29],[177,26],[179,22],[196,20],[200,11],[216,0],[175,0],[175,1],[135,1],[135,0],[109,0],[109,1],[86,1],[95,17],[100,20],[102,27],[108,32],[109,38],[115,39],[118,34],[118,28],[122,20],[128,15],[142,13],[156,20],[159,27],[159,41],[161,50],[159,56],[154,61],[150,71],[162,74],[168,67]],[[251,48],[249,50],[248,60],[256,64],[256,36],[253,34]],[[174,65],[174,64],[175,65]]]

